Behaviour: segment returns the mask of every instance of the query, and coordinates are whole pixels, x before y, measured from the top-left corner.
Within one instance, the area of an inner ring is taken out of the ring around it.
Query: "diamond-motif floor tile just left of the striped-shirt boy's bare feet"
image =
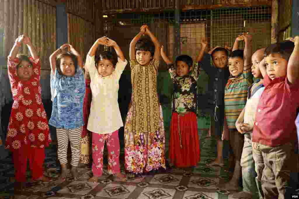
[[[219,178],[207,178],[192,176],[188,183],[189,187],[217,189],[216,185],[219,183]]]

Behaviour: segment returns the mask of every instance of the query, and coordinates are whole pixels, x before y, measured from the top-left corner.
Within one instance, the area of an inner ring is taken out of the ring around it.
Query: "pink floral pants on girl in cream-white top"
[[[120,173],[118,130],[108,134],[92,133],[92,172],[96,177],[103,174],[103,151],[105,141],[108,149],[108,173]]]

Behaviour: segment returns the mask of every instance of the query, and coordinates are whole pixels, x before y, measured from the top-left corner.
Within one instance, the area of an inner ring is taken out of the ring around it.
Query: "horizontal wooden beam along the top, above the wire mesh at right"
[[[248,2],[243,4],[216,4],[216,5],[182,5],[182,10],[212,10],[218,8],[232,8],[232,7],[257,7],[257,6],[271,6],[271,1],[265,2]]]

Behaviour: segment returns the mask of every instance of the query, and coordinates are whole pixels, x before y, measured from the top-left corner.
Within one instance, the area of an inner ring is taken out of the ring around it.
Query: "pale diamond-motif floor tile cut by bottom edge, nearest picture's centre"
[[[175,189],[146,187],[139,195],[138,199],[171,199],[173,198],[175,192]]]

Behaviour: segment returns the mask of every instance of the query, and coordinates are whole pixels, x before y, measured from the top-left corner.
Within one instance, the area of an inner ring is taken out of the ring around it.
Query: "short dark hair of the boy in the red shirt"
[[[264,56],[267,57],[270,54],[279,53],[282,56],[282,58],[284,58],[286,61],[289,61],[289,58],[294,50],[294,47],[295,47],[294,42],[289,40],[271,44],[266,48]]]

